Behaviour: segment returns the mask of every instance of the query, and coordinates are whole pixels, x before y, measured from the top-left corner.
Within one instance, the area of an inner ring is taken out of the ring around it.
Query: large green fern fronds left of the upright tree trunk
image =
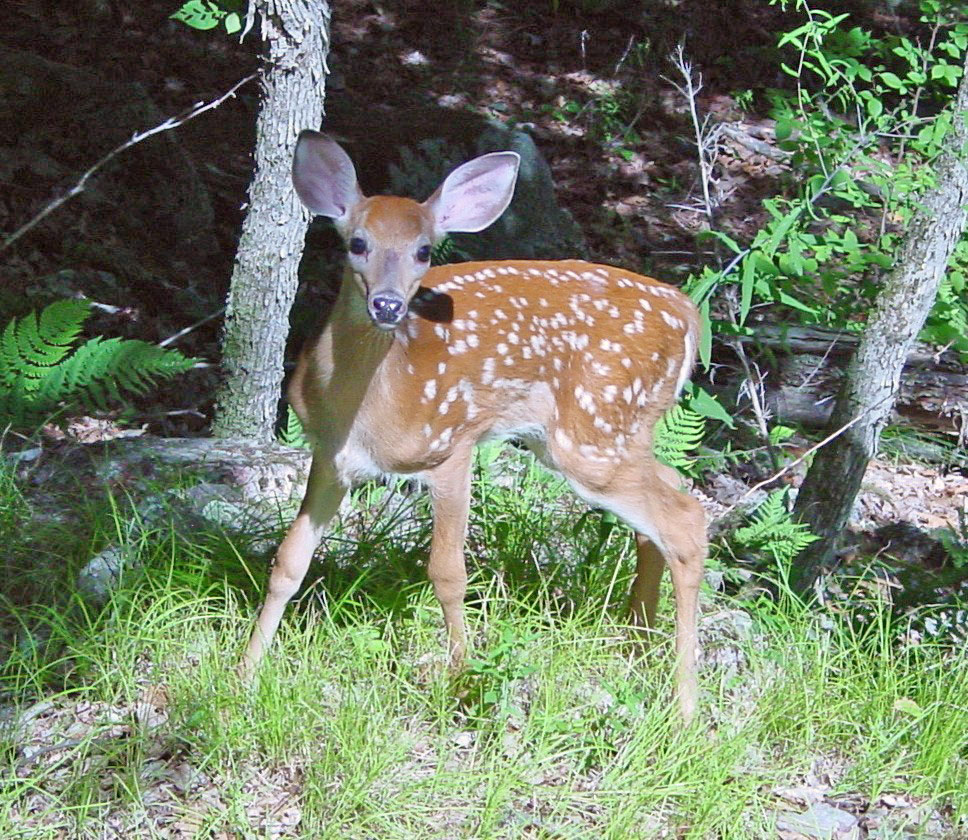
[[[127,395],[143,395],[195,363],[177,350],[121,338],[98,336],[75,348],[89,312],[87,301],[62,300],[7,324],[0,334],[0,425],[123,405]]]

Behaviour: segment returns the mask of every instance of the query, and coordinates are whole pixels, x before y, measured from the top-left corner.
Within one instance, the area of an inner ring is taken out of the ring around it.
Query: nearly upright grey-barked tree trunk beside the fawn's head
[[[212,433],[267,442],[275,431],[289,310],[309,223],[289,171],[300,130],[322,122],[330,14],[326,0],[257,0],[255,7],[269,56]]]

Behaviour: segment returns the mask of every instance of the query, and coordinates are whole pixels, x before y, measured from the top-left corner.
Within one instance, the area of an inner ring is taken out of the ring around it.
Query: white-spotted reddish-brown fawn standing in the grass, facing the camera
[[[464,540],[473,449],[515,437],[575,492],[636,532],[632,615],[655,621],[664,565],[676,603],[678,695],[696,705],[696,600],[705,517],[652,454],[656,421],[695,360],[696,310],[670,286],[577,260],[430,268],[446,233],[495,221],[514,192],[518,156],[459,166],[420,204],[366,198],[347,154],[299,137],[293,182],[346,242],[342,287],[322,335],[303,350],[289,399],[313,441],[309,485],[276,557],[245,654],[251,673],[302,582],[347,489],[389,474],[430,489],[427,573],[444,612],[451,664],[464,655]]]

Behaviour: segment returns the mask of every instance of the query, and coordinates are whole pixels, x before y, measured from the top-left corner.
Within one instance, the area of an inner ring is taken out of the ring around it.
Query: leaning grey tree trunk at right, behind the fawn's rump
[[[847,369],[830,420],[831,430],[852,423],[814,458],[794,515],[820,537],[794,561],[790,584],[807,594],[834,555],[868,461],[897,397],[901,368],[924,326],[938,286],[965,229],[968,203],[968,63],[954,103],[954,120],[937,166],[937,185],[918,206],[897,265],[874,305]]]

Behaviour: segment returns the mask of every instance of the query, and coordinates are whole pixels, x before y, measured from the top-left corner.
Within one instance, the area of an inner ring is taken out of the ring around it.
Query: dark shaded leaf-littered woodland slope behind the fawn
[[[214,98],[259,64],[256,38],[240,45],[219,31],[190,30],[169,20],[163,5],[91,2],[83,12],[28,0],[2,13],[5,229],[135,130]],[[872,25],[907,25],[876,5],[857,4],[855,12]],[[700,106],[714,118],[739,116],[731,92],[787,84],[776,71],[762,77],[776,64],[773,33],[782,19],[756,2],[563,3],[557,11],[537,2],[339,3],[325,128],[347,142],[365,188],[381,191],[402,147],[473,136],[475,115],[523,126],[584,234],[586,246],[574,250],[677,282],[708,255],[694,239],[696,214],[669,206],[688,201],[697,167],[686,103],[661,78],[671,73],[667,57],[685,39],[703,74]],[[609,117],[598,103],[610,93],[614,101],[620,84],[620,95],[634,101]],[[155,341],[217,312],[250,176],[256,108],[252,84],[115,161],[5,255],[5,319],[83,294],[119,308],[92,319],[92,334]],[[628,114],[641,137],[631,149],[606,136],[609,119],[627,124]],[[755,109],[746,119],[758,121]],[[724,173],[732,193],[720,222],[742,238],[757,229],[759,200],[782,189],[783,173],[741,144],[732,151]],[[325,311],[333,245],[326,231],[311,239],[325,259],[304,263],[312,282],[294,310],[293,346]],[[215,319],[176,346],[217,361],[218,328]],[[201,432],[215,375],[197,370],[163,388],[153,401],[159,408],[145,406],[149,429]]]

